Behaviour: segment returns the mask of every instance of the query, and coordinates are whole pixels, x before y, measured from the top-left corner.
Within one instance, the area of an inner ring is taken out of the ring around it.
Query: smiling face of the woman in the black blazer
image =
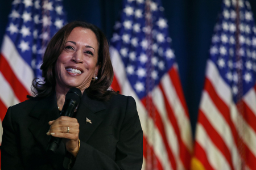
[[[98,74],[98,42],[90,29],[72,30],[55,65],[56,88],[84,91]]]

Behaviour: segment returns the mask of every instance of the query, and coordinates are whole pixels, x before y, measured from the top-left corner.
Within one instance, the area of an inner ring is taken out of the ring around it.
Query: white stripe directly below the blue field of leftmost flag
[[[6,61],[9,63],[11,69],[14,71],[14,74],[23,84],[28,92],[30,92],[30,87],[32,80],[34,79],[34,73],[31,67],[27,64],[26,61],[20,57],[18,51],[13,44],[13,41],[9,36],[5,35],[3,37],[2,43],[2,54],[6,58]]]

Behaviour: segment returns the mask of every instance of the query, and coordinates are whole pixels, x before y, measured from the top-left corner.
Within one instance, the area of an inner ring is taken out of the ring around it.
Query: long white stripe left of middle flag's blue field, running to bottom
[[[143,135],[147,139],[149,145],[153,147],[153,150],[156,156],[159,159],[163,169],[170,169],[171,164],[168,159],[168,155],[166,152],[166,148],[164,146],[164,142],[160,135],[160,132],[157,127],[155,127],[154,122],[148,116],[146,109],[144,108],[141,100],[139,100],[138,96],[135,94],[133,88],[130,86],[129,81],[126,78],[125,74],[125,66],[121,61],[119,53],[116,49],[110,47],[110,54],[112,56],[112,64],[115,76],[117,78],[117,82],[121,87],[121,91],[123,95],[133,96],[136,104],[137,104],[137,111],[139,114],[139,120],[141,121],[141,126],[143,129]],[[148,134],[148,129],[152,129],[151,133],[154,135]]]

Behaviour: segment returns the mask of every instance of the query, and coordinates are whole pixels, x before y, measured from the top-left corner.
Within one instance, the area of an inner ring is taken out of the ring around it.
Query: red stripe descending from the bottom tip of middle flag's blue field
[[[148,103],[147,103],[148,100]],[[148,113],[148,116],[150,116],[152,118],[152,120],[155,122],[156,127],[158,127],[160,134],[162,135],[162,139],[164,142],[164,146],[166,147],[166,151],[168,154],[168,157],[170,159],[170,162],[172,164],[172,169],[176,169],[177,165],[176,165],[176,161],[174,158],[174,154],[171,151],[170,146],[168,145],[168,140],[166,138],[166,130],[164,129],[164,124],[163,121],[159,115],[159,112],[157,111],[155,105],[152,103],[152,99],[151,97],[144,97],[143,99],[141,99],[142,104],[144,105],[144,107],[147,109],[148,106],[150,106],[150,112]],[[148,109],[147,109],[148,110]],[[152,113],[151,111],[155,111],[154,113]]]

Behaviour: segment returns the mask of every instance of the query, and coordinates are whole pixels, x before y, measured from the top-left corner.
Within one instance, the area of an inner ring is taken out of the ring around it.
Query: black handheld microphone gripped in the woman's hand
[[[80,103],[81,96],[82,93],[78,88],[71,88],[65,97],[65,103],[62,111],[60,112],[60,116],[72,117],[77,105]],[[55,153],[57,148],[60,146],[61,140],[62,138],[51,137],[47,151]]]

